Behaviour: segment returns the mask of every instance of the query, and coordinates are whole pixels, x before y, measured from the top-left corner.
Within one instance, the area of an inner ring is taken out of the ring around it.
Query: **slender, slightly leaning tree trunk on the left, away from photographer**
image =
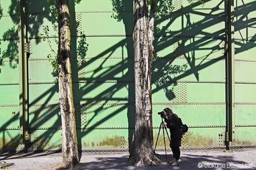
[[[79,162],[79,157],[71,79],[71,32],[68,0],[58,0],[57,9],[59,11],[58,78],[62,117],[62,165],[73,169],[74,164]]]

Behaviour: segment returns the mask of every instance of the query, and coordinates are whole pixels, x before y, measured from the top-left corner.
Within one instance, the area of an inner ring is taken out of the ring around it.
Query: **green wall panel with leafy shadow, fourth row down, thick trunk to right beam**
[[[214,71],[214,72],[212,72]],[[225,82],[225,60],[158,58],[153,61],[153,81]]]

